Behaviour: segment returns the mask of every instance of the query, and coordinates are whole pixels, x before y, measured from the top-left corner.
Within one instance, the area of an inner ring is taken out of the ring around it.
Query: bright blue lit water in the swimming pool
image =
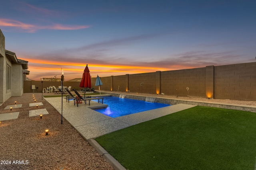
[[[96,111],[113,118],[170,106],[168,104],[151,103],[127,98],[123,99],[113,96],[104,96],[103,98],[103,103],[107,104],[108,107],[105,109],[96,109]]]

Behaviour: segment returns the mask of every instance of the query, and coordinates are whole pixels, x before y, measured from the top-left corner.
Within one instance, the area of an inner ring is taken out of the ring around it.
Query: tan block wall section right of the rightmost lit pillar
[[[214,98],[256,100],[256,63],[215,66]]]

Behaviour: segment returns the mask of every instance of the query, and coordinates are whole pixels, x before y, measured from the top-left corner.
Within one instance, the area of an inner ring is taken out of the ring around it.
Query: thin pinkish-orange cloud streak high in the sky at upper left
[[[39,29],[77,30],[77,29],[85,29],[90,27],[88,25],[62,25],[57,23],[54,25],[41,26],[41,25],[32,25],[32,24],[22,23],[16,20],[3,19],[3,18],[2,19],[0,18],[0,26],[22,29],[30,33],[34,33]]]

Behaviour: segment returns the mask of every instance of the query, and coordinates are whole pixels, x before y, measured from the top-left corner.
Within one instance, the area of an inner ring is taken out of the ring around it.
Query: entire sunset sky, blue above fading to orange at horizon
[[[255,62],[255,0],[1,0],[27,76],[81,78]]]

